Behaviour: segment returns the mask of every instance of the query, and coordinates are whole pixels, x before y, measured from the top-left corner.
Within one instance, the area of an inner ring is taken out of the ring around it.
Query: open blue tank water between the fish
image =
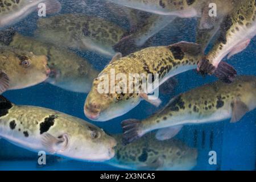
[[[84,9],[71,9],[68,4],[63,7],[61,13],[85,13]],[[90,12],[91,13],[91,12]],[[99,16],[108,17],[102,13]],[[31,35],[35,30],[36,13],[15,25],[15,29],[23,35]],[[127,22],[121,22],[124,25]],[[179,41],[195,42],[195,19],[184,19],[179,27],[169,25],[152,38],[154,45],[168,45]],[[233,56],[227,61],[237,69],[238,75],[256,76],[256,44],[255,38],[247,49]],[[77,52],[90,61],[98,70],[108,64],[109,60],[90,52]],[[173,93],[160,98],[166,103],[171,97],[185,92],[197,86],[215,81],[215,77],[205,78],[195,71],[188,71],[176,76],[178,84]],[[3,94],[11,102],[17,105],[35,105],[58,110],[76,117],[90,121],[83,113],[86,94],[68,92],[50,84],[39,84],[22,90],[12,90]],[[107,133],[121,133],[120,122],[129,118],[146,118],[156,111],[154,106],[141,102],[135,109],[122,117],[108,122],[93,122],[104,128]],[[250,111],[237,123],[223,121],[197,126],[185,126],[177,138],[183,140],[188,146],[199,150],[197,166],[194,170],[255,170],[256,156],[256,110]],[[203,137],[205,135],[205,137]],[[205,140],[203,140],[205,138]],[[0,154],[7,151],[8,155],[0,155],[0,170],[118,170],[104,163],[88,162],[59,162],[48,167],[38,167],[37,154],[18,148],[13,144],[0,140]],[[209,165],[209,151],[217,152],[217,165]],[[15,155],[23,154],[23,158],[15,158]],[[28,158],[30,156],[30,158]],[[34,160],[31,160],[31,157]]]

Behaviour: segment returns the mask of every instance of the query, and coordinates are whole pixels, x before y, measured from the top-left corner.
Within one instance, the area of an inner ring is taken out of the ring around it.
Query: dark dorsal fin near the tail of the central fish
[[[182,52],[188,53],[190,55],[200,55],[202,54],[202,48],[200,44],[192,43],[192,42],[179,42],[176,44],[172,44],[168,46],[169,48],[178,47],[181,49]]]

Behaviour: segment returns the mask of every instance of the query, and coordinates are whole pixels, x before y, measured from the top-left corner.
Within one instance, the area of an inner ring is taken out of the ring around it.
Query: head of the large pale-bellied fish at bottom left
[[[88,123],[86,133],[76,142],[73,144],[77,146],[77,150],[72,151],[72,155],[78,155],[77,158],[101,162],[112,159],[115,155],[116,140],[92,124]]]

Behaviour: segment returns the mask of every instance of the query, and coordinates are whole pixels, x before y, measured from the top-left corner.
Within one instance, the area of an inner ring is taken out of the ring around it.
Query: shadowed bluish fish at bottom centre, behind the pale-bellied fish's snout
[[[132,170],[191,170],[197,163],[197,150],[178,140],[158,141],[146,135],[134,143],[123,146],[122,136],[117,140],[114,158],[105,163]]]

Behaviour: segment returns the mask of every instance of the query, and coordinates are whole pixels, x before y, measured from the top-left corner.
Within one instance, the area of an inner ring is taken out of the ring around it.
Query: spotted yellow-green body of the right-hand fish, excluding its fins
[[[200,86],[173,98],[169,104],[143,119],[138,135],[164,127],[217,122],[232,117],[236,101],[245,104],[248,110],[256,107],[256,77],[238,76],[232,84],[217,81]]]

